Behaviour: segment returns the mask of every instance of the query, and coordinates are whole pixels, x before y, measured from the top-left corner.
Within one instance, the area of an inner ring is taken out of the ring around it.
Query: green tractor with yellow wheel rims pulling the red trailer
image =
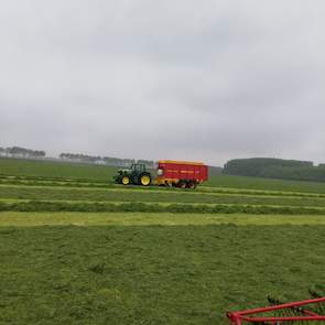
[[[142,185],[149,186],[151,184],[151,174],[147,171],[144,164],[132,164],[129,170],[118,170],[118,174],[113,177],[118,184]]]

